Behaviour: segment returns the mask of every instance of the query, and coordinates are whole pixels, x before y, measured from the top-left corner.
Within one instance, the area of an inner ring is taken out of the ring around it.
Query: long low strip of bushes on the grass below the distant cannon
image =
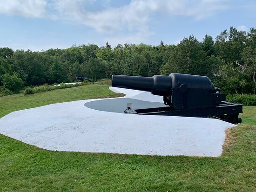
[[[81,84],[64,84],[61,83],[60,86],[35,86],[35,87],[27,87],[24,91],[24,95],[27,94],[34,94],[34,93],[41,93],[45,91],[51,91],[55,89],[65,89],[65,88],[70,88],[70,87],[75,87],[75,86],[84,86],[88,84],[93,84],[92,82],[89,82],[87,80],[84,80]]]

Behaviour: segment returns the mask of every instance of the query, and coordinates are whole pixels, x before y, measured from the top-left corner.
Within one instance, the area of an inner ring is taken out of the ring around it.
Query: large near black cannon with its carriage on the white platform
[[[226,101],[225,93],[206,76],[171,73],[169,76],[137,77],[112,75],[112,86],[163,96],[166,107],[126,109],[125,113],[221,119],[241,123],[243,106]]]

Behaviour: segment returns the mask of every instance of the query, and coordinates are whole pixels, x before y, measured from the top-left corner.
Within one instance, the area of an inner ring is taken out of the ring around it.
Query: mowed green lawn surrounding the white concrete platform
[[[100,84],[9,95],[0,97],[0,117],[51,103],[117,96]],[[219,158],[57,152],[0,134],[0,191],[256,191],[256,106],[243,111],[243,123],[231,128]]]

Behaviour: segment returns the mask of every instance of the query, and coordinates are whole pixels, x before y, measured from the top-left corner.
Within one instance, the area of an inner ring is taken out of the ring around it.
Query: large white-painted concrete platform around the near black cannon
[[[233,124],[205,118],[124,114],[164,106],[151,93],[110,87],[123,98],[89,99],[9,113],[0,133],[48,150],[218,157]]]

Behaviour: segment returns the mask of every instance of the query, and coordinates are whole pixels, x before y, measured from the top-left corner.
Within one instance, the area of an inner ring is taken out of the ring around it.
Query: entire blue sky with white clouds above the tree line
[[[256,27],[256,0],[0,0],[0,47],[177,44]]]

